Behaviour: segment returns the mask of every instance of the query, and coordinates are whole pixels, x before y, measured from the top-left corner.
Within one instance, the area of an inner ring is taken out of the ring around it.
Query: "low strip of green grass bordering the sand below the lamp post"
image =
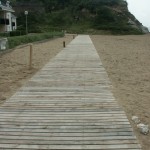
[[[50,33],[8,37],[8,45],[9,45],[9,48],[11,49],[21,44],[27,44],[27,43],[32,43],[36,41],[42,41],[45,39],[51,39],[54,37],[62,37],[62,36],[64,36],[63,32],[50,32]]]

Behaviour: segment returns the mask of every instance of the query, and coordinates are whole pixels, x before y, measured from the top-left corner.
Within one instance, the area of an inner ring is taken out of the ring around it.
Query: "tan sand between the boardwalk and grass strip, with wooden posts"
[[[0,54],[0,103],[3,103],[18,88],[41,69],[51,58],[68,44],[73,35],[33,44],[33,69],[29,70],[29,46],[24,45],[11,52]]]

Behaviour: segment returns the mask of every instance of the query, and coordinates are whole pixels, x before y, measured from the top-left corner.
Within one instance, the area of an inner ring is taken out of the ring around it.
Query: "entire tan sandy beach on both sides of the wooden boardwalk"
[[[112,92],[126,112],[143,150],[150,136],[142,135],[133,115],[150,126],[150,34],[140,36],[92,35],[93,43],[112,82]],[[33,44],[33,68],[29,70],[29,46],[0,56],[0,103],[12,96],[39,69],[68,44],[72,35]]]

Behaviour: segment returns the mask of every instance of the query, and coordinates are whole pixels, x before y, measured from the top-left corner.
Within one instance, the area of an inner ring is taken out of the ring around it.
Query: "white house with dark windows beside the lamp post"
[[[14,12],[9,1],[6,4],[0,1],[0,32],[10,32],[17,29],[17,18],[13,15]]]

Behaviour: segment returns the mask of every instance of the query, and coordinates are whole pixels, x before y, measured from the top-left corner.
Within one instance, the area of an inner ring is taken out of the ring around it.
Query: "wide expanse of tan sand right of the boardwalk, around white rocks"
[[[143,150],[150,149],[150,134],[138,132],[133,115],[150,126],[150,34],[91,36],[113,85],[113,93],[133,125]]]

